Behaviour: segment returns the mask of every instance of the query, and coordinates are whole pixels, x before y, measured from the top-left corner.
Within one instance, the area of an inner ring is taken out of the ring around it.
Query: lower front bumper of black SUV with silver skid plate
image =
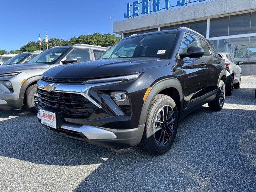
[[[37,118],[41,122],[40,111],[37,114]],[[59,136],[116,149],[126,149],[139,144],[144,131],[144,125],[128,130],[114,130],[70,123],[64,123],[57,129],[43,126]]]

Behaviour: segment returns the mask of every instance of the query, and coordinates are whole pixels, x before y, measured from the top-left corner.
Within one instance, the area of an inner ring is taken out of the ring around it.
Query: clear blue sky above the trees
[[[20,49],[29,41],[112,33],[124,20],[129,0],[0,0],[0,50]]]

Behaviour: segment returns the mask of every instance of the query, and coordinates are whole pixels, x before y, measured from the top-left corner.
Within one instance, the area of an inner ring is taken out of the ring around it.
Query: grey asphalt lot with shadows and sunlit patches
[[[56,136],[26,111],[0,110],[1,191],[256,191],[256,77],[184,118],[171,150],[112,150]]]

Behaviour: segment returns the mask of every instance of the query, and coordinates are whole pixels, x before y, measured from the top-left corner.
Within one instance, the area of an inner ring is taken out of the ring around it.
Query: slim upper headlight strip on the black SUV
[[[105,82],[113,82],[113,81],[128,81],[137,79],[141,73],[126,75],[126,76],[117,76],[117,77],[109,77],[109,78],[100,78],[100,79],[90,79],[84,82],[84,84],[92,84],[92,83],[105,83]]]

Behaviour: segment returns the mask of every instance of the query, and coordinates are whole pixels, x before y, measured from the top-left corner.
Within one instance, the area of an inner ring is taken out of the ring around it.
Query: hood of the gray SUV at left
[[[49,68],[50,65],[44,63],[27,63],[27,64],[14,64],[14,65],[2,65],[0,66],[0,74],[21,72],[32,69],[44,69]]]

